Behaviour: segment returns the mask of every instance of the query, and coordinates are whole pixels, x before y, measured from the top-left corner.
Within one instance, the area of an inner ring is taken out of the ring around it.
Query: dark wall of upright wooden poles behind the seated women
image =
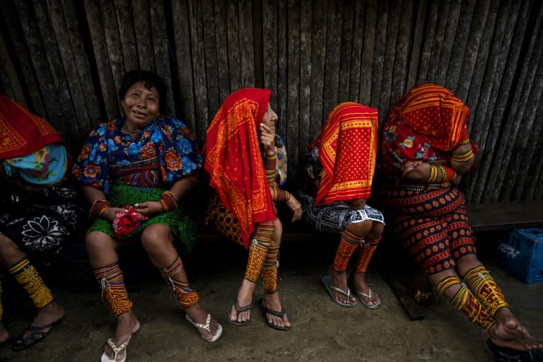
[[[538,0],[0,1],[0,91],[74,146],[119,116],[124,72],[162,76],[171,115],[204,144],[226,96],[271,88],[296,184],[306,145],[344,101],[387,111],[423,82],[472,110],[473,203],[543,199]]]

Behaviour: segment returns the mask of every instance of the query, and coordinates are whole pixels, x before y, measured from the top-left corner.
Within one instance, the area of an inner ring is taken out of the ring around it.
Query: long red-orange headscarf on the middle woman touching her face
[[[257,134],[270,95],[257,88],[230,94],[206,134],[204,167],[211,175],[210,185],[238,219],[246,247],[255,222],[276,219]]]

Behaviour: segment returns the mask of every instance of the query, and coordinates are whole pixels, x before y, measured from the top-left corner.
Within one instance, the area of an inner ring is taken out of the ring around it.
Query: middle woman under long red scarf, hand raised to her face
[[[293,195],[279,188],[286,163],[278,160],[285,161],[286,153],[275,134],[277,115],[269,106],[270,95],[271,91],[264,89],[236,91],[226,98],[211,122],[205,169],[214,190],[206,214],[219,233],[249,250],[245,276],[228,321],[234,325],[250,322],[255,283],[262,276],[264,298],[259,300],[259,307],[269,327],[286,330],[291,323],[277,291],[283,229],[275,204],[284,202],[293,211],[292,221],[301,217],[302,209]]]

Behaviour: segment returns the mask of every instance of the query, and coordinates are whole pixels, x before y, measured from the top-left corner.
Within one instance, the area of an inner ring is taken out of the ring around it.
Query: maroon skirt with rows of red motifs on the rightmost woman
[[[458,259],[477,252],[458,189],[384,188],[381,197],[390,229],[428,274],[454,269]]]

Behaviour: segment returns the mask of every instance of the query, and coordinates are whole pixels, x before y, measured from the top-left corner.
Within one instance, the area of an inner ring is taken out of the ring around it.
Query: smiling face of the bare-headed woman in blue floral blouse
[[[132,127],[146,127],[158,117],[158,91],[155,87],[147,89],[144,82],[134,83],[124,95],[121,105]]]

